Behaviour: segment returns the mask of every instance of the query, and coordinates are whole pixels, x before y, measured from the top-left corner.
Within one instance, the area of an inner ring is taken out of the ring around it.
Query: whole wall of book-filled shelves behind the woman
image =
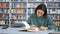
[[[60,0],[0,0],[0,24],[9,27],[26,21],[35,8],[45,3],[47,13],[57,26],[60,23]]]

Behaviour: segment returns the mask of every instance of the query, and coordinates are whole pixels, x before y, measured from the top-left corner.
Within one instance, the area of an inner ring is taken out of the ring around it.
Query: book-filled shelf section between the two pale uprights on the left
[[[18,27],[21,21],[26,21],[27,1],[11,0],[11,2],[11,27]]]

